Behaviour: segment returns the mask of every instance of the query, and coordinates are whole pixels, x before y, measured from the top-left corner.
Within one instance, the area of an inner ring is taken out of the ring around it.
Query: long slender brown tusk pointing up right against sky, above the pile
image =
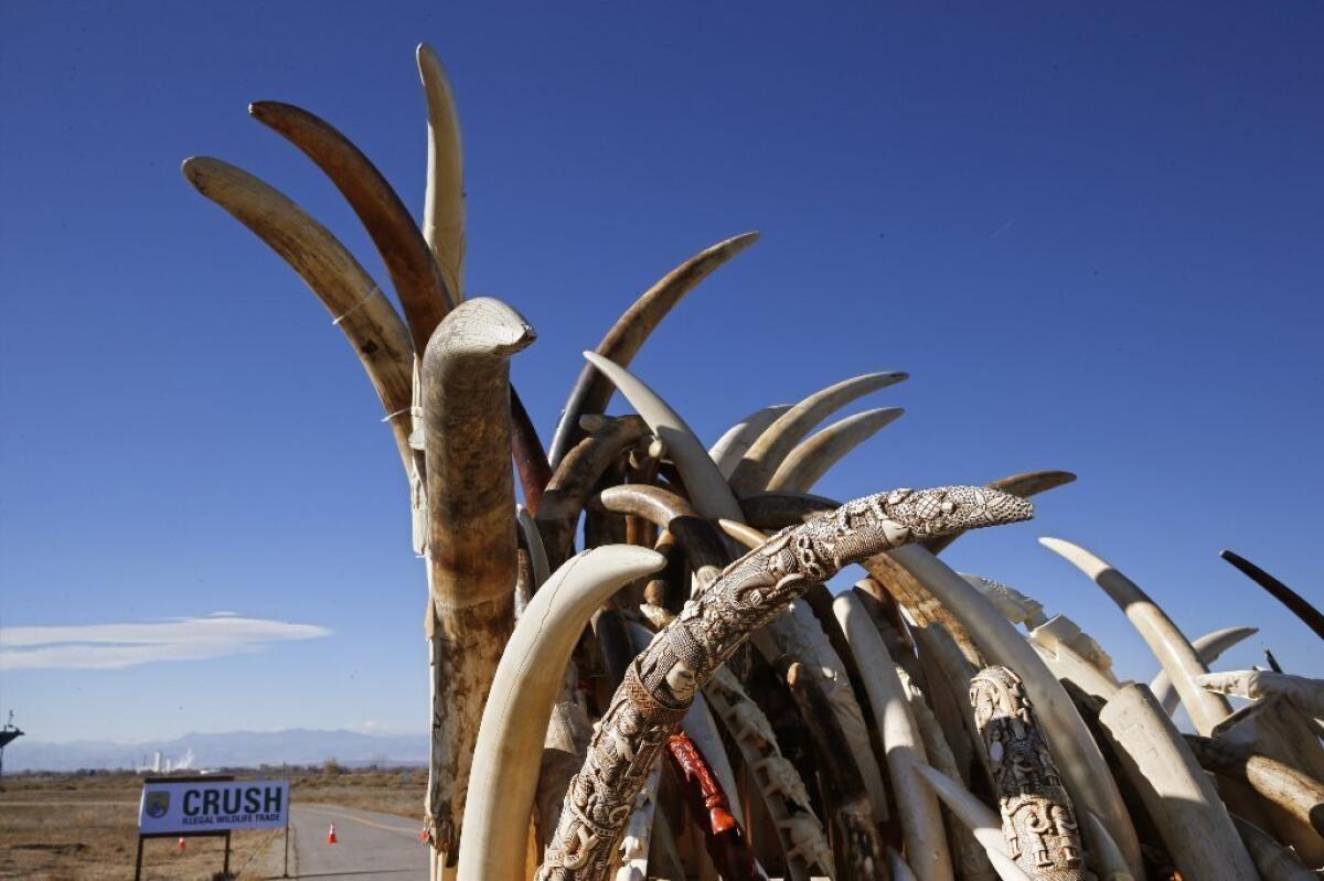
[[[677,266],[645,291],[630,308],[625,310],[602,337],[602,341],[597,344],[594,352],[622,368],[629,366],[639,348],[662,323],[662,319],[681,302],[681,298],[756,241],[759,241],[759,233],[743,233],[718,242]],[[561,458],[584,437],[579,429],[580,417],[602,413],[610,399],[610,377],[594,370],[592,365],[585,365],[575,381],[575,388],[571,389],[565,409],[561,410],[561,419],[552,435],[552,447],[548,455],[552,467],[559,466]]]

